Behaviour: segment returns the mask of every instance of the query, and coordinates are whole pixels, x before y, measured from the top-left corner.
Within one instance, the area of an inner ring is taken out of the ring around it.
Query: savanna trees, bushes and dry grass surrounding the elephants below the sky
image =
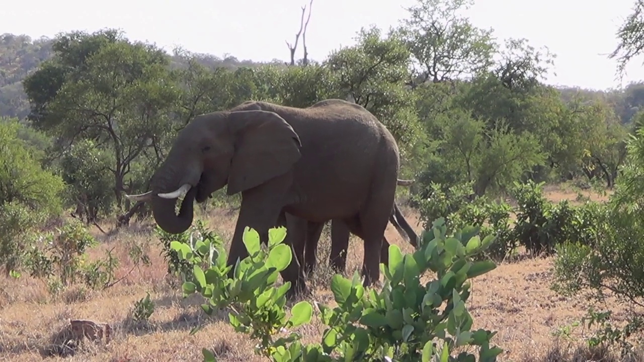
[[[112,29],[0,35],[0,356],[644,360],[644,83],[549,86],[554,54],[497,39],[464,6],[418,0],[325,59],[308,59],[303,11],[286,62],[167,53]],[[620,71],[644,48],[642,6],[617,32]],[[314,295],[286,301],[283,229],[266,248],[249,230],[251,258],[225,278],[239,195],[218,191],[177,235],[125,197],[194,115],[329,98],[374,113],[399,178],[416,180],[398,199],[421,245],[388,227],[379,287],[354,273],[361,242],[344,276],[328,268],[325,231]],[[104,343],[74,338],[70,319],[107,323]]]

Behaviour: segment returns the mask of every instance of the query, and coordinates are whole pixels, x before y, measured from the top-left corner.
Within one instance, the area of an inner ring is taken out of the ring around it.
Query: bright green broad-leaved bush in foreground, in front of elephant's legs
[[[312,305],[299,301],[289,316],[290,282],[276,286],[279,272],[292,259],[290,247],[283,244],[285,228],[270,229],[265,249],[259,234],[246,228],[243,242],[249,256],[234,266],[226,265],[220,243],[202,239],[191,246],[174,240],[171,248],[193,265],[184,296],[200,293],[207,314],[229,309],[235,330],[256,339],[256,353],[272,361],[495,361],[502,352],[489,344],[495,332],[471,330],[466,307],[469,280],[496,267],[489,260],[472,260],[494,240],[491,235],[481,240],[477,233],[470,226],[448,235],[439,219],[422,234],[421,247],[413,254],[390,245],[390,263],[381,264],[385,281],[380,291],[365,289],[357,273],[352,279],[336,274],[331,290],[337,307],[316,303],[326,329],[321,342],[310,345],[303,345],[293,329],[313,318]],[[231,268],[234,278],[227,278]],[[435,278],[421,283],[428,271]],[[466,346],[478,348],[478,354],[463,350]],[[212,352],[203,352],[205,361],[216,361]]]

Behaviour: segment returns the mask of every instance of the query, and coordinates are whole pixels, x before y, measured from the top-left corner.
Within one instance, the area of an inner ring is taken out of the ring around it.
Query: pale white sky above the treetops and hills
[[[314,0],[307,32],[310,59],[321,61],[331,50],[354,44],[361,26],[376,24],[388,30],[406,17],[403,6],[413,2]],[[0,7],[0,33],[37,39],[71,30],[120,28],[129,39],[156,43],[168,52],[181,45],[192,52],[219,57],[229,53],[240,60],[286,60],[289,50],[284,41],[294,40],[301,6],[308,5],[308,0],[89,4],[86,0],[7,1]],[[644,79],[642,57],[630,62],[621,84],[615,80],[616,62],[607,59],[617,44],[614,34],[633,5],[634,0],[475,0],[466,14],[475,26],[494,28],[499,40],[525,37],[535,47],[548,46],[557,55],[557,75],[550,75],[547,83],[605,89]]]

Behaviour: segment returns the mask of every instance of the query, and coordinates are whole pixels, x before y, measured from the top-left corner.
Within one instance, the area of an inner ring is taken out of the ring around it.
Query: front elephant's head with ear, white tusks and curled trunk
[[[290,124],[271,111],[199,115],[180,131],[152,176],[151,190],[128,197],[150,201],[156,224],[167,233],[182,233],[193,222],[194,200],[204,202],[225,185],[233,195],[282,175],[299,159],[300,147]]]

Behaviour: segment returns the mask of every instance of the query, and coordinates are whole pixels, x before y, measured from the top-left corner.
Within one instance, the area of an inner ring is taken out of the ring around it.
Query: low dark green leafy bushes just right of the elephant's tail
[[[515,182],[509,189],[518,204],[513,209],[507,202],[475,196],[471,184],[443,187],[430,184],[428,198],[415,196],[424,226],[430,220],[446,218],[450,227],[475,225],[481,236],[495,235],[495,242],[478,258],[502,260],[522,245],[531,254],[552,254],[555,245],[564,242],[589,243],[598,235],[603,206],[586,202],[570,205],[567,200],[557,204],[544,196],[544,183],[531,180]],[[511,224],[510,213],[516,215]]]

